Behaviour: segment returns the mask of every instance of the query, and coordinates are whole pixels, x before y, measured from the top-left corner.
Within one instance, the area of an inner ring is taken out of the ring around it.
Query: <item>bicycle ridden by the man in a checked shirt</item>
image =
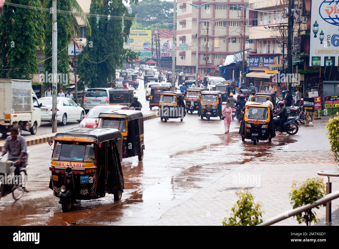
[[[0,199],[2,196],[12,193],[15,200],[19,200],[26,190],[28,166],[19,168],[19,175],[14,175],[17,162],[6,161],[1,162],[0,157],[0,175],[5,182],[0,181]]]

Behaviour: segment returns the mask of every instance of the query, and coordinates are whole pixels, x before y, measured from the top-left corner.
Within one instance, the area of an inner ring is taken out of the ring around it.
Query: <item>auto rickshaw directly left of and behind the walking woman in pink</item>
[[[198,115],[203,119],[207,118],[210,121],[210,117],[222,117],[222,101],[220,91],[202,91],[200,100],[200,110]]]

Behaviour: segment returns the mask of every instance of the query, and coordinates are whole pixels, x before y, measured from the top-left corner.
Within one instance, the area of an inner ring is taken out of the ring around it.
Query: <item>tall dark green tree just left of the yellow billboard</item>
[[[133,1],[134,3],[137,0]],[[123,61],[137,59],[137,53],[124,49],[134,14],[128,10],[122,0],[113,0],[102,5],[94,1],[90,7],[91,14],[110,15],[114,18],[91,18],[92,36],[87,39],[86,46],[79,55],[77,69],[79,81],[89,87],[105,87],[107,81],[115,78],[116,66],[122,66]],[[121,18],[116,18],[117,16]]]

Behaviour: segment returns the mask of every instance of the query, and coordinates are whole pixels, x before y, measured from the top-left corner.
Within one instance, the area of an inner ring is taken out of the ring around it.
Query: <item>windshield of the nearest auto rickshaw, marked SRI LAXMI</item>
[[[77,141],[57,141],[52,160],[94,162],[95,144]]]

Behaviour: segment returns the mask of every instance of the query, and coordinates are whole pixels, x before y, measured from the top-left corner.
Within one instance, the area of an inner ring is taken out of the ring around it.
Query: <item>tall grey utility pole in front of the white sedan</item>
[[[58,26],[57,26],[57,0],[52,0],[52,132],[57,132],[57,92],[58,92]]]

